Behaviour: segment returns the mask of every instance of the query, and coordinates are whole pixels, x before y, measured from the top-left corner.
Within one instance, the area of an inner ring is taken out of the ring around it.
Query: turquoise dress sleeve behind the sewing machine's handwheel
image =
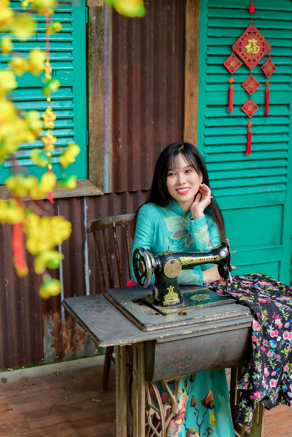
[[[135,234],[133,239],[133,246],[132,246],[132,253],[131,253],[131,277],[135,284],[137,283],[133,265],[132,265],[132,258],[133,253],[136,247],[142,246],[146,250],[152,249],[152,243],[153,243],[153,237],[154,237],[154,225],[152,220],[149,217],[149,214],[147,213],[147,209],[145,206],[142,206],[139,209],[138,216],[137,216],[137,222],[136,222],[136,228],[135,228]]]

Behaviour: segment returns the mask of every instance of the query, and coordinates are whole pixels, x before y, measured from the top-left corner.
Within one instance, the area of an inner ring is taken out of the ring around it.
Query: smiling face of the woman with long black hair
[[[181,205],[187,214],[199,191],[202,173],[198,175],[181,153],[179,154],[179,166],[180,168],[168,170],[166,186],[170,196]]]

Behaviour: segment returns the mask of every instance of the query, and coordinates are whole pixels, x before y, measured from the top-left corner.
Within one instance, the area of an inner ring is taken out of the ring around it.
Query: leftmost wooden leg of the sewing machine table
[[[117,436],[127,437],[127,362],[126,347],[115,347],[115,402]]]

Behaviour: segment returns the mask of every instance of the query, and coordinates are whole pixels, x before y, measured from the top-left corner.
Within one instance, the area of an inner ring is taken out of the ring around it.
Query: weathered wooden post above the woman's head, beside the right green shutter
[[[187,0],[184,53],[184,141],[197,147],[200,47],[200,0]]]

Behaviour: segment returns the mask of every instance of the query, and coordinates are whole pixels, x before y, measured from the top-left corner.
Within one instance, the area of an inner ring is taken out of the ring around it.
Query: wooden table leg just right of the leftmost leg
[[[145,342],[133,344],[133,437],[145,437]]]

